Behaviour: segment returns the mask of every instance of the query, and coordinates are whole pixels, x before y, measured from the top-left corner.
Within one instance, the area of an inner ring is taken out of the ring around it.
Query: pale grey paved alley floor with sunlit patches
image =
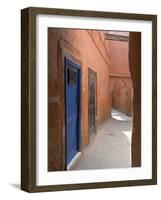
[[[112,109],[73,170],[131,167],[132,118]]]

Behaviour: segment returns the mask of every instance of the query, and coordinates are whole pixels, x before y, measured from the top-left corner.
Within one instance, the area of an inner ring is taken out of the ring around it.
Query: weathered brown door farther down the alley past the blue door
[[[96,134],[96,113],[97,113],[97,73],[88,68],[88,129],[89,138]]]

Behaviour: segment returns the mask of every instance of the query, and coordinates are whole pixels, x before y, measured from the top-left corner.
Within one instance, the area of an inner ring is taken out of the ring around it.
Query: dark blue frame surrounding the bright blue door
[[[81,149],[81,74],[82,69],[81,65],[78,64],[75,60],[71,59],[71,57],[64,56],[64,83],[65,83],[65,169],[67,170],[67,66],[69,63],[72,67],[78,69],[78,127],[77,127],[77,148],[78,152]],[[76,154],[77,155],[77,154]],[[74,157],[73,157],[74,158]]]

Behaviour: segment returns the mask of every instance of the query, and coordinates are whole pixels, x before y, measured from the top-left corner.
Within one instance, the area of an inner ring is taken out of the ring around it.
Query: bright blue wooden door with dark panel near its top
[[[66,162],[79,151],[80,131],[80,69],[79,66],[65,59],[66,83]]]

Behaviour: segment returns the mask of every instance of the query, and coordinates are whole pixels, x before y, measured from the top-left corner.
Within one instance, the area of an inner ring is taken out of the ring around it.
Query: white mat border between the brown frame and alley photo
[[[48,172],[48,27],[137,31],[141,37],[141,167]],[[36,19],[36,184],[152,178],[152,23],[150,21],[38,15]]]

